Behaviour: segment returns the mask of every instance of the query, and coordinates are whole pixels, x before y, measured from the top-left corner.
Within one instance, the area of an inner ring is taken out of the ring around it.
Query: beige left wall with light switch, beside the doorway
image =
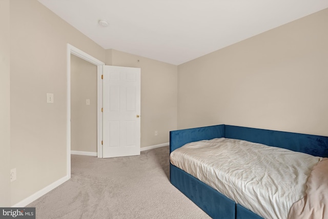
[[[67,43],[103,62],[105,50],[36,0],[10,1],[10,39],[14,205],[67,175]]]

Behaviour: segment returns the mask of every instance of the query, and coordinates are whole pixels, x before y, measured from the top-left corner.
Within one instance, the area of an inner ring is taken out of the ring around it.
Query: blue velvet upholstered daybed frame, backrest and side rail
[[[170,153],[175,149],[200,140],[217,137],[234,138],[293,151],[328,157],[328,137],[292,132],[273,131],[230,125],[216,125],[170,132]],[[170,163],[170,181],[198,207],[212,218],[262,218],[236,204],[194,176]]]

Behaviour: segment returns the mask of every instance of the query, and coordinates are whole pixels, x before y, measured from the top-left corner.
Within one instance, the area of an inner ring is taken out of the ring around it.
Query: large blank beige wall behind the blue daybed
[[[178,128],[328,135],[328,9],[178,66]]]

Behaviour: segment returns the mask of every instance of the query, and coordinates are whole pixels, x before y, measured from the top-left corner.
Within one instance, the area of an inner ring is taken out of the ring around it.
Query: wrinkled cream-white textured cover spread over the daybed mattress
[[[287,218],[305,194],[309,154],[230,138],[188,143],[171,163],[264,218]]]

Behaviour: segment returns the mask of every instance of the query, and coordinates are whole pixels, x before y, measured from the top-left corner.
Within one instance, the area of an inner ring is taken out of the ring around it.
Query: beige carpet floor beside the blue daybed
[[[210,218],[169,181],[169,147],[139,156],[72,155],[72,178],[38,198],[36,218]]]

